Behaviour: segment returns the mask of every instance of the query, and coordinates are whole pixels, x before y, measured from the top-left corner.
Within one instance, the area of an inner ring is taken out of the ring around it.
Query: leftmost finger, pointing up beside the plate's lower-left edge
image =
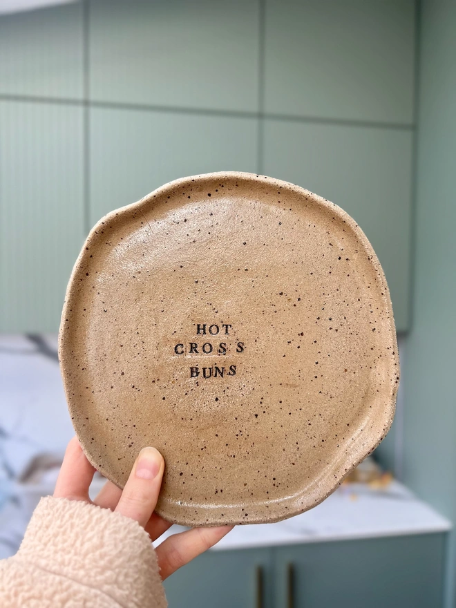
[[[55,498],[89,502],[88,488],[94,473],[95,468],[86,459],[77,438],[73,437],[66,448],[64,462],[55,484]]]

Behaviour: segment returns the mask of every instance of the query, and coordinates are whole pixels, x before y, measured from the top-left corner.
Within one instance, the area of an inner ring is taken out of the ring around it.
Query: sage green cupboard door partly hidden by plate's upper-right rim
[[[263,172],[316,192],[361,226],[386,274],[397,330],[409,323],[412,131],[265,120]]]

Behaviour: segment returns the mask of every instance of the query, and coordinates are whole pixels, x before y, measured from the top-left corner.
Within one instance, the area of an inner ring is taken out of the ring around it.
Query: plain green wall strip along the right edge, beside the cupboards
[[[456,3],[424,0],[419,21],[415,278],[412,330],[402,370],[403,473],[419,496],[454,522]],[[455,575],[453,568],[449,591]],[[448,602],[453,605],[453,600]]]

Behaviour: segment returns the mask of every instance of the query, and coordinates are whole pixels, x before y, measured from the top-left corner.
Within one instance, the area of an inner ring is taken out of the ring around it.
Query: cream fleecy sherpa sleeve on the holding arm
[[[17,554],[0,562],[2,608],[165,608],[149,535],[120,513],[42,498]]]

